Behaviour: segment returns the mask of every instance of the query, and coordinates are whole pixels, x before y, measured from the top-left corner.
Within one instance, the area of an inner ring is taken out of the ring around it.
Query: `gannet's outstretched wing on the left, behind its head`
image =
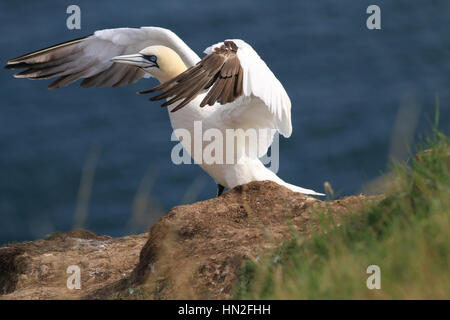
[[[199,56],[172,31],[141,27],[98,30],[93,35],[11,59],[5,68],[26,69],[15,74],[16,78],[58,77],[49,89],[67,86],[80,78],[84,78],[82,87],[120,87],[135,83],[148,74],[135,66],[113,63],[110,59],[138,53],[152,45],[173,49],[188,67],[200,61]]]

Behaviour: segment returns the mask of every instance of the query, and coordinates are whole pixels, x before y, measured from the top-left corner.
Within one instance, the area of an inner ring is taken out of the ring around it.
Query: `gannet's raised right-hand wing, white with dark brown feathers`
[[[276,129],[285,137],[291,135],[291,101],[250,45],[228,40],[207,48],[205,53],[185,72],[141,93],[162,91],[150,100],[169,99],[163,106],[178,102],[171,110],[175,112],[208,90],[200,107],[215,103],[230,106],[221,113],[230,126]],[[271,143],[271,138],[268,141]]]

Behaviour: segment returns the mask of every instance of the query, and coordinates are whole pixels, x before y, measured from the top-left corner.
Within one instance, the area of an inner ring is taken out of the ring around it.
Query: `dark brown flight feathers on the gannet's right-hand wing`
[[[139,93],[161,91],[150,100],[170,98],[162,104],[163,107],[182,100],[171,112],[180,110],[207,89],[209,92],[200,107],[212,106],[216,101],[220,104],[233,102],[243,94],[243,70],[236,54],[237,50],[234,42],[225,41],[195,66],[159,86]]]

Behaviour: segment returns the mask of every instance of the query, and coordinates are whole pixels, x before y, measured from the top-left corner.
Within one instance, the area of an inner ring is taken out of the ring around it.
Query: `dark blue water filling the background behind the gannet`
[[[66,28],[70,4],[81,7],[81,30]],[[370,4],[381,7],[382,30],[366,28]],[[353,194],[386,170],[399,106],[408,108],[411,97],[420,106],[416,141],[429,131],[436,95],[440,128],[450,131],[448,0],[3,0],[0,21],[2,63],[112,27],[170,28],[199,53],[226,38],[248,41],[292,100],[294,131],[280,142],[279,175],[307,188],[323,190],[329,181],[341,195]],[[84,226],[94,232],[130,232],[148,172],[150,210],[134,231],[186,199],[215,195],[200,168],[170,161],[175,143],[166,110],[135,95],[155,80],[49,91],[49,81],[14,79],[2,70],[0,84],[0,244],[73,228],[93,147],[100,151]],[[186,196],[193,185],[198,192]]]

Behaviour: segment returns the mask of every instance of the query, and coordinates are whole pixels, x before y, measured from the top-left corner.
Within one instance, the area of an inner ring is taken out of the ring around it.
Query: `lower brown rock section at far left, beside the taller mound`
[[[0,299],[80,299],[127,277],[147,235],[98,236],[87,230],[0,248]],[[81,271],[81,289],[67,288],[67,268]]]

